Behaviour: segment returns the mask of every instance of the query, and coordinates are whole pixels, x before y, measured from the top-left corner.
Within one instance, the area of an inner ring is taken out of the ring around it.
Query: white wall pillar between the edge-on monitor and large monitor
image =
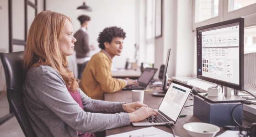
[[[165,64],[171,48],[168,76],[191,76],[193,45],[192,0],[163,0],[163,36],[155,39],[155,68]]]

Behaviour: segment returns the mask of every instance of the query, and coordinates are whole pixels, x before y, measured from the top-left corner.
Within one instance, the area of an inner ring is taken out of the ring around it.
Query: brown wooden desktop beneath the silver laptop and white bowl
[[[127,91],[119,91],[119,92],[112,93],[112,94],[105,93],[105,100],[113,101],[113,102],[132,103],[132,93],[131,92],[132,91],[127,90]],[[152,92],[160,92],[160,90],[154,89],[151,92],[150,91],[144,92],[144,104],[148,105],[150,108],[158,109],[163,98],[153,96]],[[193,104],[193,100],[190,100],[190,99],[191,98],[189,98],[187,100],[187,103],[185,106]],[[172,126],[172,128],[175,132],[175,135],[180,136],[180,137],[189,137],[187,131],[183,128],[183,125],[186,123],[189,123],[189,122],[202,122],[202,121],[199,120],[198,118],[196,118],[195,116],[193,116],[193,106],[184,108],[181,111],[181,115],[187,115],[187,117],[180,117],[177,120],[176,124],[174,126]],[[243,119],[243,126],[248,126],[250,124],[251,124],[250,121]],[[145,127],[149,127],[149,126],[129,125],[129,126],[123,126],[123,127],[118,127],[118,128],[114,128],[114,129],[109,129],[106,131],[106,136],[113,135],[113,134],[119,134],[119,133],[123,133],[123,132],[129,132],[129,131],[133,131],[133,130],[137,130],[137,129],[141,129],[141,128],[145,128]],[[170,127],[166,127],[166,126],[154,126],[154,127],[164,130],[165,132],[172,133]],[[221,127],[220,131],[215,136],[218,136],[223,132],[225,132],[225,131]]]

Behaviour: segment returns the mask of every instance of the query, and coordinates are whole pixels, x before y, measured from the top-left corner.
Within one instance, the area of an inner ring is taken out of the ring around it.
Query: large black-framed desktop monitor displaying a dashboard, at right
[[[244,89],[244,18],[197,28],[197,78]]]

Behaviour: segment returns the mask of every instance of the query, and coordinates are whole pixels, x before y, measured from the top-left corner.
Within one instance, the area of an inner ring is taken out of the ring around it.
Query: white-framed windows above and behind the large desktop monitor
[[[193,0],[193,31],[197,27],[245,17],[244,53],[256,52],[256,0]],[[194,33],[194,36],[196,34]],[[196,39],[195,39],[196,41]],[[195,44],[195,46],[197,46]],[[195,54],[196,48],[194,51]],[[197,69],[194,56],[194,69]],[[196,75],[196,71],[193,71]]]

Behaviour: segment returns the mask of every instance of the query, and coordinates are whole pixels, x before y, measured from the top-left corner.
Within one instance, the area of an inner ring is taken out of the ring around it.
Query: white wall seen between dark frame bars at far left
[[[0,52],[9,52],[9,16],[8,0],[0,0]],[[37,0],[37,12],[43,11],[43,0]],[[13,38],[24,40],[24,0],[12,0]],[[28,28],[33,21],[35,11],[28,6]],[[13,45],[13,52],[24,50],[24,46]],[[5,74],[0,63],[0,91],[5,85]],[[4,89],[5,90],[5,89]]]

